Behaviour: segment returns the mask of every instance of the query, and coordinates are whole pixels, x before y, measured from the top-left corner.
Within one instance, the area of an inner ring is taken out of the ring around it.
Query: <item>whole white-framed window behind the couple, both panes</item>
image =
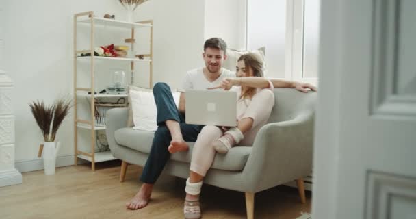
[[[266,47],[267,76],[317,85],[320,1],[247,1],[247,48]]]

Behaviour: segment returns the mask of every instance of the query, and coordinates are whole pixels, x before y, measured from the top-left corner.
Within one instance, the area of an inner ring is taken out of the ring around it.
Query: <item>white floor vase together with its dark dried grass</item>
[[[44,140],[42,154],[45,175],[55,174],[56,156],[60,149],[60,142],[55,146],[55,137],[57,129],[69,114],[70,103],[67,98],[56,99],[52,105],[45,105],[43,101],[29,103]]]

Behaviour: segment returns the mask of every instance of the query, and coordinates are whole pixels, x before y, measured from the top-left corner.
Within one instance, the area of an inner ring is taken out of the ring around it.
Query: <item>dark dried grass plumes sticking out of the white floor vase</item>
[[[31,113],[34,115],[36,123],[45,142],[55,141],[57,129],[64,118],[69,114],[71,101],[68,98],[56,99],[53,105],[45,105],[43,101],[33,101],[29,103]]]

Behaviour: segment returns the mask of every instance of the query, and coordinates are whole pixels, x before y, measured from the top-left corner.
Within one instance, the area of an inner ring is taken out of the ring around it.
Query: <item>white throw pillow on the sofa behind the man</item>
[[[173,92],[173,99],[179,105],[179,92]],[[131,110],[133,113],[133,129],[156,131],[157,108],[152,92],[143,90],[130,90]]]

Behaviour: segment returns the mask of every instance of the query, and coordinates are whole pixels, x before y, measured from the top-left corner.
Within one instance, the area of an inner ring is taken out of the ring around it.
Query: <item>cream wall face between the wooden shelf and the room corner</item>
[[[177,88],[187,70],[203,64],[204,1],[152,0],[135,12],[136,21],[153,19],[153,84],[166,82]],[[139,31],[139,41],[147,42],[148,31]],[[148,52],[147,44],[139,51]],[[148,87],[148,67],[137,74],[138,86]]]

